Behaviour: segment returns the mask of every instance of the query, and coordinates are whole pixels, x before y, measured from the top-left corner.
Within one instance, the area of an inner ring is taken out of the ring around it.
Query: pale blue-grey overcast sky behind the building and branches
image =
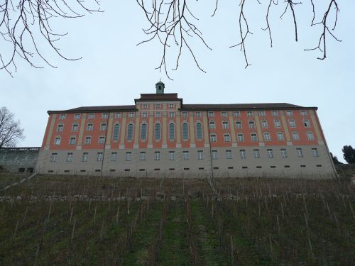
[[[155,93],[155,83],[161,78],[165,92],[178,92],[185,104],[287,102],[317,106],[329,150],[342,159],[344,145],[355,147],[355,1],[338,1],[340,13],[334,33],[342,43],[327,35],[326,60],[317,60],[322,56],[319,51],[303,50],[317,46],[322,31],[317,26],[310,28],[310,3],[295,6],[297,43],[289,11],[280,19],[283,1],[273,6],[270,48],[268,33],[261,30],[266,26],[268,1],[261,5],[247,1],[246,16],[253,33],[246,40],[251,63],[247,69],[239,48],[229,48],[240,40],[238,1],[219,1],[213,18],[214,1],[190,2],[200,18],[196,24],[212,51],[190,40],[207,73],[198,70],[188,50],[183,50],[178,70],[170,71],[173,81],[155,70],[163,52],[158,42],[136,45],[146,39],[142,28],[148,26],[136,1],[102,1],[104,13],[53,21],[53,28],[68,31],[58,42],[61,52],[82,60],[62,60],[41,43],[40,49],[58,68],[38,70],[17,58],[13,78],[0,72],[0,106],[15,113],[25,129],[26,139],[18,146],[41,145],[48,110],[134,104],[133,99],[141,93]],[[321,2],[327,1],[315,1],[316,11],[324,13],[325,6],[317,6]],[[316,21],[320,21],[322,15],[316,13]],[[169,70],[175,59],[176,50],[168,52]]]

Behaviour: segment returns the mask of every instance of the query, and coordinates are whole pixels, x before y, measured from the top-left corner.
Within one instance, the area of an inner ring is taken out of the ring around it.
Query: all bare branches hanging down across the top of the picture
[[[211,16],[216,14],[219,6],[219,0],[214,1],[215,6],[212,6]],[[239,9],[236,11],[239,15],[239,29],[236,34],[236,43],[231,44],[230,48],[240,48],[246,67],[250,65],[246,44],[252,34],[252,29],[249,27],[249,14],[246,13],[246,9],[248,5],[253,4],[252,2],[255,3],[255,1],[258,4],[265,4],[265,13],[262,13],[261,16],[265,17],[266,27],[263,30],[268,32],[271,47],[273,46],[273,38],[270,14],[275,6],[284,5],[280,18],[283,18],[283,16],[292,18],[295,28],[295,41],[298,40],[299,34],[297,29],[297,6],[300,6],[302,2],[295,2],[295,0],[240,0]],[[195,56],[194,48],[196,44],[192,41],[193,38],[197,38],[202,45],[212,50],[207,44],[207,40],[204,40],[202,30],[198,27],[199,19],[195,15],[197,12],[192,7],[192,3],[198,6],[199,4],[201,5],[201,1],[198,4],[195,0],[136,0],[136,2],[143,11],[143,16],[146,17],[148,23],[148,26],[143,29],[147,38],[138,43],[138,45],[156,39],[162,48],[162,56],[157,69],[163,70],[169,77],[168,53],[172,53],[172,51],[174,53],[174,48],[178,47],[178,53],[173,55],[175,56],[175,60],[173,60],[175,67],[171,70],[178,69],[182,52],[186,51],[192,56],[197,67],[202,72],[205,72]],[[202,4],[205,4],[205,1],[202,1]],[[321,56],[318,59],[324,60],[327,57],[327,39],[331,37],[340,41],[334,35],[339,13],[337,0],[318,0],[317,6],[315,6],[315,0],[306,0],[304,4],[310,6],[310,14],[312,14],[310,26],[320,28],[317,45],[314,48],[305,50],[320,50]],[[324,11],[316,13],[315,10],[318,10],[316,7],[318,9],[324,8]],[[65,60],[80,59],[65,57],[60,52],[60,48],[55,42],[67,33],[58,33],[53,30],[51,25],[53,25],[55,18],[80,18],[84,16],[84,13],[97,11],[100,11],[99,0],[0,0],[0,34],[2,37],[2,39],[0,38],[0,70],[5,70],[9,74],[13,70],[16,71],[17,57],[26,60],[33,67],[43,67],[39,63],[41,61],[51,67],[55,67],[45,57],[43,43],[46,43],[59,57]],[[317,22],[317,17],[321,18],[319,22]]]

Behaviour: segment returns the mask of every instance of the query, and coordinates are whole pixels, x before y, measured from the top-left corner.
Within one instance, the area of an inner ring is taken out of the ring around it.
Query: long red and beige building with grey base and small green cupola
[[[48,111],[36,171],[131,177],[335,177],[316,107],[182,104],[141,94],[129,106]]]

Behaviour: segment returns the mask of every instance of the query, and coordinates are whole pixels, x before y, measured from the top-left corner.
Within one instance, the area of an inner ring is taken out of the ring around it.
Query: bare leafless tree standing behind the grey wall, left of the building
[[[18,140],[23,139],[20,121],[15,121],[13,113],[6,107],[0,109],[0,148],[15,147]]]

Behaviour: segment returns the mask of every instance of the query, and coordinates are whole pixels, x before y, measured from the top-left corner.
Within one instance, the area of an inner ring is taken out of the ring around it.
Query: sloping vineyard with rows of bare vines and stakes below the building
[[[340,179],[36,175],[0,192],[0,265],[355,265],[354,209]]]

